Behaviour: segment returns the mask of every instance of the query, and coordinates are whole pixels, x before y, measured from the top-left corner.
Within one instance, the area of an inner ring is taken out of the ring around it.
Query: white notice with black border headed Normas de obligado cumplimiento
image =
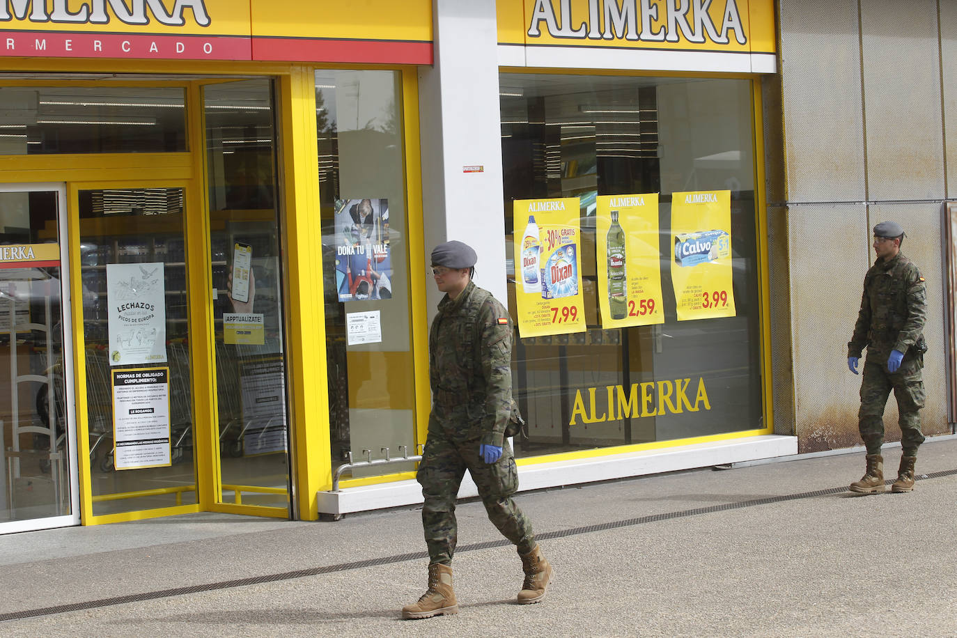
[[[113,467],[170,465],[169,429],[169,368],[113,370]]]

